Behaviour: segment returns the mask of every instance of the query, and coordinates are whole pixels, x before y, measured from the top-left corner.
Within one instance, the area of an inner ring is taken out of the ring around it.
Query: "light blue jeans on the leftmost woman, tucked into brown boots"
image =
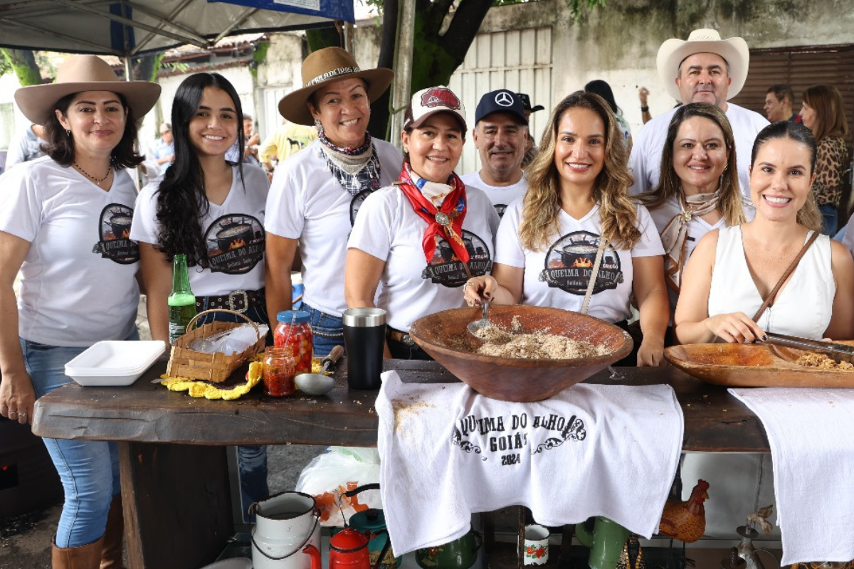
[[[36,398],[71,382],[65,374],[65,364],[86,349],[19,340]],[[127,340],[139,340],[136,328]],[[56,527],[56,546],[73,548],[96,542],[107,527],[110,502],[121,491],[118,444],[64,438],[42,440],[65,494]]]

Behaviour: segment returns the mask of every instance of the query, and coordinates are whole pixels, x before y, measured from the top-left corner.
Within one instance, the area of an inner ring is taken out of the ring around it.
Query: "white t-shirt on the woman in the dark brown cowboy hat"
[[[380,163],[379,182],[387,186],[401,173],[401,153],[373,139]],[[347,239],[356,212],[370,192],[350,195],[327,170],[314,141],[288,160],[279,162],[267,199],[266,230],[298,239],[302,258],[303,301],[333,316],[347,310],[344,300],[344,264]]]

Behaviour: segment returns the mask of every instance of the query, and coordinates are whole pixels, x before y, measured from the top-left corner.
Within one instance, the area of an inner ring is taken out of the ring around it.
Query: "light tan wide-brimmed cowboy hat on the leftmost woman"
[[[30,85],[15,91],[20,112],[36,125],[44,125],[54,114],[54,106],[62,97],[80,91],[113,91],[125,97],[135,119],[140,119],[155,106],[160,85],[149,81],[121,81],[95,55],[74,55],[62,61],[56,69],[56,81],[46,85]]]

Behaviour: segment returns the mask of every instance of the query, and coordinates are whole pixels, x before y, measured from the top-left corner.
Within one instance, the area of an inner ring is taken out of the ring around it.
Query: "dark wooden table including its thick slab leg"
[[[33,433],[120,442],[121,487],[131,569],[194,569],[216,559],[231,537],[225,445],[375,446],[377,392],[350,390],[347,366],[323,397],[266,398],[255,389],[237,401],[208,401],[151,383],[155,364],[129,387],[69,384],[38,399]],[[434,362],[386,360],[405,383],[453,383]],[[725,388],[671,366],[620,368],[588,383],[673,387],[685,417],[682,449],[769,452],[762,423]]]

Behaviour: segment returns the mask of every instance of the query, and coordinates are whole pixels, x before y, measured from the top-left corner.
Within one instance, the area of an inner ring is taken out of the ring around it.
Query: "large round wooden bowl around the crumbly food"
[[[519,316],[521,332],[547,330],[573,340],[605,345],[605,356],[569,360],[532,360],[515,357],[482,356],[482,342],[465,328],[481,317],[480,308],[454,308],[424,316],[412,323],[409,334],[424,351],[448,371],[488,398],[530,402],[552,397],[567,387],[586,380],[629,355],[632,339],[613,324],[577,312],[540,306],[492,306],[489,321],[511,329]]]

